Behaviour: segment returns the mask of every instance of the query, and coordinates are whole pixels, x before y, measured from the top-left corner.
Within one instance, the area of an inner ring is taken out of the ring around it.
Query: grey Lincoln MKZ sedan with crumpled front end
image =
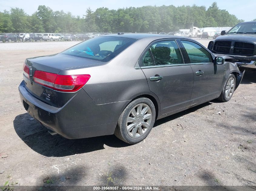
[[[230,100],[243,77],[233,61],[186,37],[118,33],[26,59],[18,89],[52,135],[115,134],[135,144],[157,119]]]

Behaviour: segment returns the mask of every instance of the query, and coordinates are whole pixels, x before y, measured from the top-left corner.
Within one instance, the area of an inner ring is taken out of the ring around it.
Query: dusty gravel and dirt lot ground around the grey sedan
[[[230,101],[158,120],[136,145],[114,135],[68,140],[28,115],[18,85],[25,58],[76,43],[0,44],[0,185],[256,186],[256,72],[246,71]]]

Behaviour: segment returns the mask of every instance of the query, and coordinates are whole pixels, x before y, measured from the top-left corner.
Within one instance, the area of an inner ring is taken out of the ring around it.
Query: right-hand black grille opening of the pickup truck
[[[234,54],[241,56],[249,56],[254,53],[254,44],[235,42],[234,44]]]

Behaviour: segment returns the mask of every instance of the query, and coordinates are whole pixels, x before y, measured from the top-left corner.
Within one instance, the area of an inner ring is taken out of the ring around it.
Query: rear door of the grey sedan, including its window
[[[160,100],[161,114],[190,104],[193,71],[189,64],[184,64],[174,39],[151,43],[142,54],[139,64],[150,91]]]

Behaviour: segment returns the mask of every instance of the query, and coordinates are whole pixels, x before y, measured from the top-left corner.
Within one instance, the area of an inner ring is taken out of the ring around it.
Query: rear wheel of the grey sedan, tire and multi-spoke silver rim
[[[115,136],[129,144],[145,139],[155,123],[155,106],[145,97],[138,98],[124,109],[118,119]]]

